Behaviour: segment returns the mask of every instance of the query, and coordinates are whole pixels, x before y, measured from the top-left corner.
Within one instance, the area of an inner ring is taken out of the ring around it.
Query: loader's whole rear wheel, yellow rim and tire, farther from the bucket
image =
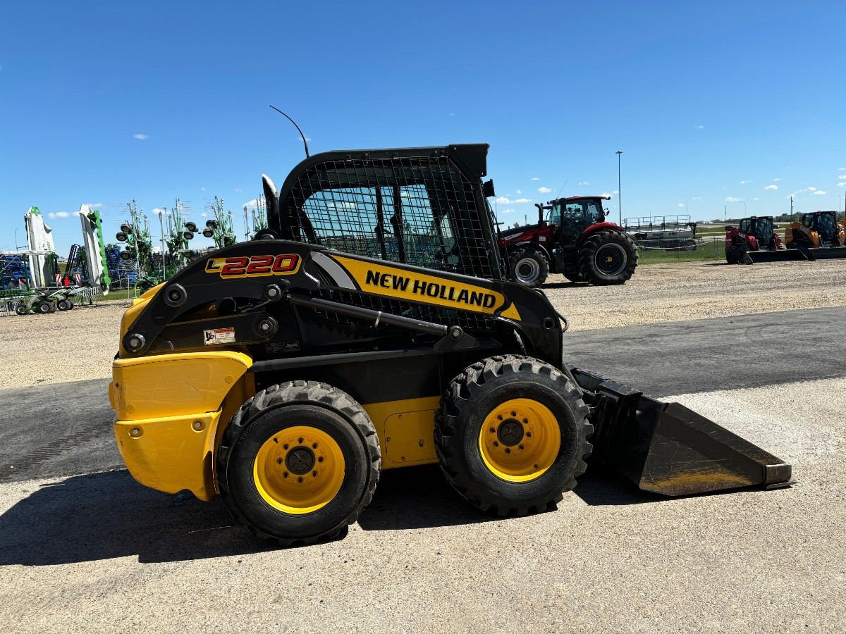
[[[313,544],[355,522],[381,465],[364,408],[331,385],[297,380],[271,385],[235,413],[217,452],[217,483],[257,537]]]

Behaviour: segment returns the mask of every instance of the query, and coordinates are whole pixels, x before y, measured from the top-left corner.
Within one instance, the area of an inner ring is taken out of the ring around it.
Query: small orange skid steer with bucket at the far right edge
[[[741,257],[746,264],[846,258],[846,220],[838,222],[834,211],[802,214],[784,229],[784,244],[786,249],[745,251]]]

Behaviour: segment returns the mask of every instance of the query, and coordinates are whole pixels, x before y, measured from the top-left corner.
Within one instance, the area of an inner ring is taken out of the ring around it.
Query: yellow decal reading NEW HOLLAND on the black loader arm
[[[332,254],[332,259],[349,272],[360,289],[390,298],[434,303],[454,309],[494,314],[502,310],[506,299],[502,293],[461,281],[405,271],[393,266],[362,262]],[[503,316],[519,320],[514,306]]]

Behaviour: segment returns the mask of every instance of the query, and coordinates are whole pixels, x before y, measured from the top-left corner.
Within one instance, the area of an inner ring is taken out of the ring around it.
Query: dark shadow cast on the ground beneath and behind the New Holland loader
[[[576,493],[591,506],[661,499],[602,472],[580,478]],[[359,526],[384,531],[508,521],[464,501],[431,465],[383,472]],[[151,563],[277,548],[236,525],[220,497],[202,502],[187,491],[164,494],[136,483],[125,470],[74,476],[32,491],[0,516],[0,544],[0,566],[135,555]]]

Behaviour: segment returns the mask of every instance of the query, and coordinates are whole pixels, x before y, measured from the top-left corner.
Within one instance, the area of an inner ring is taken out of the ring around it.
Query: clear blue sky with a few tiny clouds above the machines
[[[131,199],[238,218],[304,156],[270,103],[312,153],[490,143],[508,224],[559,191],[616,216],[616,150],[624,217],[842,210],[844,24],[842,0],[5,3],[0,249],[30,205],[60,254],[82,203],[108,234]]]

